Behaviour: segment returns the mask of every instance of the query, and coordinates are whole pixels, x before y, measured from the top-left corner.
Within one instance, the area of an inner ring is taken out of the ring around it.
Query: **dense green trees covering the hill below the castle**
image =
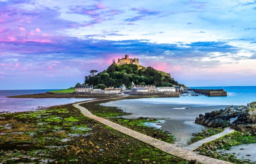
[[[152,67],[138,68],[135,64],[116,65],[111,64],[106,70],[85,76],[85,83],[93,84],[95,88],[104,86],[119,87],[123,83],[130,86],[130,82],[135,84],[154,84],[156,86],[174,86],[178,82],[170,77],[170,74],[156,70]]]

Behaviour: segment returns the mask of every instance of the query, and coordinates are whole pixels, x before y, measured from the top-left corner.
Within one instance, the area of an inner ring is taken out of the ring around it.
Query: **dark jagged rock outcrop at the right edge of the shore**
[[[228,106],[225,109],[199,114],[195,118],[195,123],[207,127],[226,127],[231,126],[236,130],[255,131],[256,129],[256,102],[247,106]],[[254,127],[255,126],[255,127]]]

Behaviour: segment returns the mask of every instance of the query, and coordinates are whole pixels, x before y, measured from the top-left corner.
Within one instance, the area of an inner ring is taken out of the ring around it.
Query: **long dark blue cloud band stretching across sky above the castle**
[[[49,60],[104,60],[112,54],[119,54],[120,57],[125,53],[134,56],[158,57],[163,60],[171,59],[173,63],[190,62],[191,58],[196,59],[197,64],[202,58],[212,57],[212,52],[219,52],[223,56],[230,57],[230,54],[238,52],[239,48],[229,45],[227,42],[191,42],[191,43],[151,43],[148,40],[104,40],[104,39],[82,39],[77,37],[56,37],[50,38],[52,42],[3,42],[0,50],[5,53],[17,53],[15,57],[19,62],[28,61],[33,63]],[[0,59],[11,60],[13,57],[6,55]],[[10,58],[10,59],[8,59]],[[194,61],[193,61],[194,62]],[[214,63],[213,61],[211,63]],[[105,66],[110,63],[105,63]],[[199,66],[199,65],[198,65]]]

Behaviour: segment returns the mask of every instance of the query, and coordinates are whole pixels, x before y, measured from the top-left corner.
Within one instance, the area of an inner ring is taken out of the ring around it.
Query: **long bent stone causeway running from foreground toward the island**
[[[109,99],[116,99],[116,98],[109,98]],[[111,122],[107,119],[104,119],[104,118],[101,118],[101,117],[98,117],[98,116],[95,116],[93,114],[91,114],[86,108],[80,106],[79,104],[81,103],[87,103],[87,102],[93,102],[93,101],[100,101],[100,100],[106,100],[106,99],[96,99],[96,100],[90,100],[90,101],[86,101],[86,102],[79,102],[79,103],[75,103],[73,104],[73,106],[79,108],[82,112],[83,115],[89,117],[89,118],[92,118],[96,121],[99,121],[117,131],[120,131],[126,135],[129,135],[135,139],[138,139],[144,143],[147,143],[149,145],[152,145],[164,152],[167,152],[171,155],[174,155],[174,156],[178,156],[178,157],[182,157],[182,158],[185,158],[185,159],[188,159],[188,160],[192,160],[192,159],[196,159],[198,162],[200,163],[208,163],[208,164],[218,164],[218,163],[230,163],[230,162],[227,162],[227,161],[223,161],[223,160],[219,160],[219,159],[215,159],[215,158],[210,158],[210,157],[207,157],[207,156],[203,156],[203,155],[199,155],[193,151],[190,151],[190,150],[186,150],[182,147],[177,147],[173,144],[170,144],[170,143],[166,143],[164,141],[161,141],[161,140],[158,140],[158,139],[154,139],[153,137],[151,136],[148,136],[148,135],[144,135],[140,132],[137,132],[137,131],[134,131],[134,130],[131,130],[127,127],[124,127],[124,126],[121,126],[119,124],[116,124],[114,122]]]

